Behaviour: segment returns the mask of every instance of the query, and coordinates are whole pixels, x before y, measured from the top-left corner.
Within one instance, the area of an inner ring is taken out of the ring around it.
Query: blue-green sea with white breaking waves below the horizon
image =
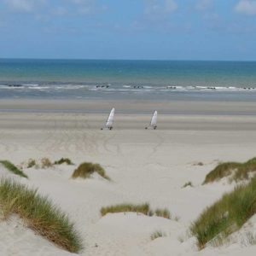
[[[0,99],[256,100],[256,61],[0,59]]]

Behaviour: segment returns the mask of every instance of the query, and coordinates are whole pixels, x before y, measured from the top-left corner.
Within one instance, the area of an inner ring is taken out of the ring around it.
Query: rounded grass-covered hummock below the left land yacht
[[[110,180],[110,178],[106,175],[105,170],[99,164],[92,164],[92,163],[83,163],[81,164],[74,172],[72,177],[83,177],[88,178],[94,172],[98,173],[100,176]]]

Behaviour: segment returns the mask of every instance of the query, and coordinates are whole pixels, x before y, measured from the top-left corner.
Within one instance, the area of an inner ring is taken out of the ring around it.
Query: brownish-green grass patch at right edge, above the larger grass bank
[[[207,174],[203,184],[218,181],[223,177],[229,177],[230,180],[240,181],[247,179],[250,172],[256,172],[256,158],[247,160],[245,163],[226,162],[216,166],[212,172]]]

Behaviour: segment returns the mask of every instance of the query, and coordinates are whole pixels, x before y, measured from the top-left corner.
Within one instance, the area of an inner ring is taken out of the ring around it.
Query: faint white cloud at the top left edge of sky
[[[9,8],[18,11],[30,13],[34,11],[40,4],[45,3],[44,0],[5,0]]]

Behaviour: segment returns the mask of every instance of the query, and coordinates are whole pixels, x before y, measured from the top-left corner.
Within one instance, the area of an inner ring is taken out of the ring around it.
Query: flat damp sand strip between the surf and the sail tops
[[[3,99],[0,113],[152,113],[164,115],[256,115],[256,102],[138,101],[138,100],[32,100]]]

